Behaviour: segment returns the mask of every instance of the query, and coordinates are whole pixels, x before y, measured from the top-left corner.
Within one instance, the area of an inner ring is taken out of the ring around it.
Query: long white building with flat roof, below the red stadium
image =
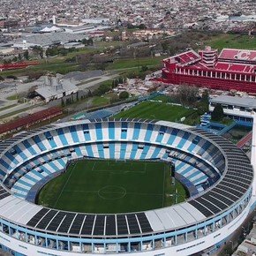
[[[237,121],[252,122],[252,111],[256,112],[256,99],[221,95],[209,100],[209,111],[221,104],[225,116]]]

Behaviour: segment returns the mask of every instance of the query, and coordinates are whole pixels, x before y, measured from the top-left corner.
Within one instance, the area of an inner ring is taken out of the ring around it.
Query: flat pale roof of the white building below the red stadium
[[[211,98],[210,102],[220,103],[222,105],[232,105],[237,107],[244,107],[248,109],[256,109],[256,99],[250,97],[234,97],[221,95]]]

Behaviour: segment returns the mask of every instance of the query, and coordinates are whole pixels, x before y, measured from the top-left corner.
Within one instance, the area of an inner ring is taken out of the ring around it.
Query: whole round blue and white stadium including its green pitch
[[[1,247],[13,255],[190,255],[229,239],[255,201],[245,153],[184,124],[49,124],[0,149]],[[166,190],[169,180],[176,184]],[[108,201],[116,207],[102,207]]]

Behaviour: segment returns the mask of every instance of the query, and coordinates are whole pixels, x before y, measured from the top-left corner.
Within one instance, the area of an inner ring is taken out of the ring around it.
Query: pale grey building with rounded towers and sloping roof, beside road
[[[44,83],[35,89],[36,95],[40,95],[45,102],[61,99],[64,96],[76,94],[78,91],[79,88],[71,80],[51,76],[45,76]]]

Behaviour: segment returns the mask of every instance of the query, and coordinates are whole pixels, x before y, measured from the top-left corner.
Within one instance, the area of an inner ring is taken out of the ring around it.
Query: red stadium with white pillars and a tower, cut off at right
[[[163,60],[162,80],[217,90],[256,93],[256,50],[188,50]]]

